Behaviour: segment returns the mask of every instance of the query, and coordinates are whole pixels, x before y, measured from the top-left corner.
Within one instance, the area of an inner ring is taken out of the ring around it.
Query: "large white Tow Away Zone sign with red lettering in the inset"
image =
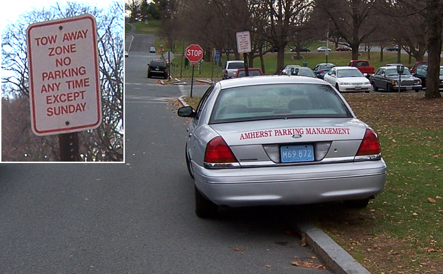
[[[34,134],[80,132],[100,125],[97,27],[92,15],[29,25],[27,55]]]

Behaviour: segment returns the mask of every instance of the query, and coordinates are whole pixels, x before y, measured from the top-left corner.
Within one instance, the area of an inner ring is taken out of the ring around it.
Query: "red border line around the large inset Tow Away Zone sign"
[[[56,128],[56,129],[46,129],[46,130],[39,130],[36,128],[36,110],[35,110],[35,97],[34,97],[34,73],[32,70],[32,51],[31,49],[31,41],[29,39],[29,37],[31,36],[31,30],[36,28],[36,27],[46,27],[49,25],[56,25],[56,24],[60,24],[60,23],[71,23],[73,21],[80,21],[80,20],[84,20],[84,19],[89,19],[91,21],[91,27],[93,30],[93,43],[94,43],[94,66],[95,66],[95,77],[97,79],[97,81],[95,81],[95,96],[97,99],[97,121],[95,121],[94,123],[91,124],[87,124],[87,125],[77,125],[75,127],[60,127],[60,128]],[[95,23],[95,18],[94,16],[92,16],[91,14],[84,14],[84,15],[80,15],[80,16],[74,16],[74,17],[69,17],[69,18],[62,18],[62,19],[58,19],[58,20],[53,20],[53,21],[47,21],[47,22],[43,22],[43,23],[34,23],[32,25],[29,25],[29,27],[27,27],[26,30],[26,34],[27,34],[27,55],[28,55],[28,63],[29,63],[29,101],[30,101],[30,107],[32,108],[32,131],[34,132],[34,134],[38,135],[38,136],[45,136],[45,135],[53,135],[53,134],[64,134],[64,133],[70,133],[70,132],[80,132],[82,130],[87,130],[87,129],[95,129],[97,127],[99,127],[99,125],[101,124],[101,90],[100,90],[100,81],[99,81],[99,61],[98,61],[98,48],[97,48],[97,25]]]

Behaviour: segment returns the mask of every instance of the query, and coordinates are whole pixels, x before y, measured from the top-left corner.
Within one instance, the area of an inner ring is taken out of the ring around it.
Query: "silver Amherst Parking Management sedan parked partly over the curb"
[[[364,207],[385,186],[377,134],[330,84],[260,76],[213,84],[191,117],[186,162],[195,212],[218,206],[344,201]]]

